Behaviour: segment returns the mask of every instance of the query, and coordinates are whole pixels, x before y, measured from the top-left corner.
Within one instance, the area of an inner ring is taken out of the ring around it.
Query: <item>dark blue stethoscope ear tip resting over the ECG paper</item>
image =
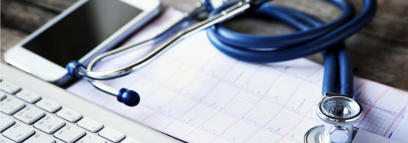
[[[139,94],[137,94],[133,90],[128,90],[126,88],[120,89],[119,94],[116,95],[116,98],[118,98],[119,102],[132,107],[139,104],[140,101]]]

